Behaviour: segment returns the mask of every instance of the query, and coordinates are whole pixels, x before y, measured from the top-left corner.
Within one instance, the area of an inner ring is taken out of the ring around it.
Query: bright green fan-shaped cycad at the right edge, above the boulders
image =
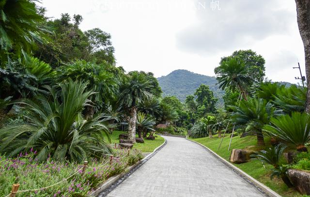
[[[307,113],[293,112],[270,120],[271,125],[263,127],[265,132],[277,136],[296,146],[299,152],[308,152],[305,144],[310,141],[310,116]]]

